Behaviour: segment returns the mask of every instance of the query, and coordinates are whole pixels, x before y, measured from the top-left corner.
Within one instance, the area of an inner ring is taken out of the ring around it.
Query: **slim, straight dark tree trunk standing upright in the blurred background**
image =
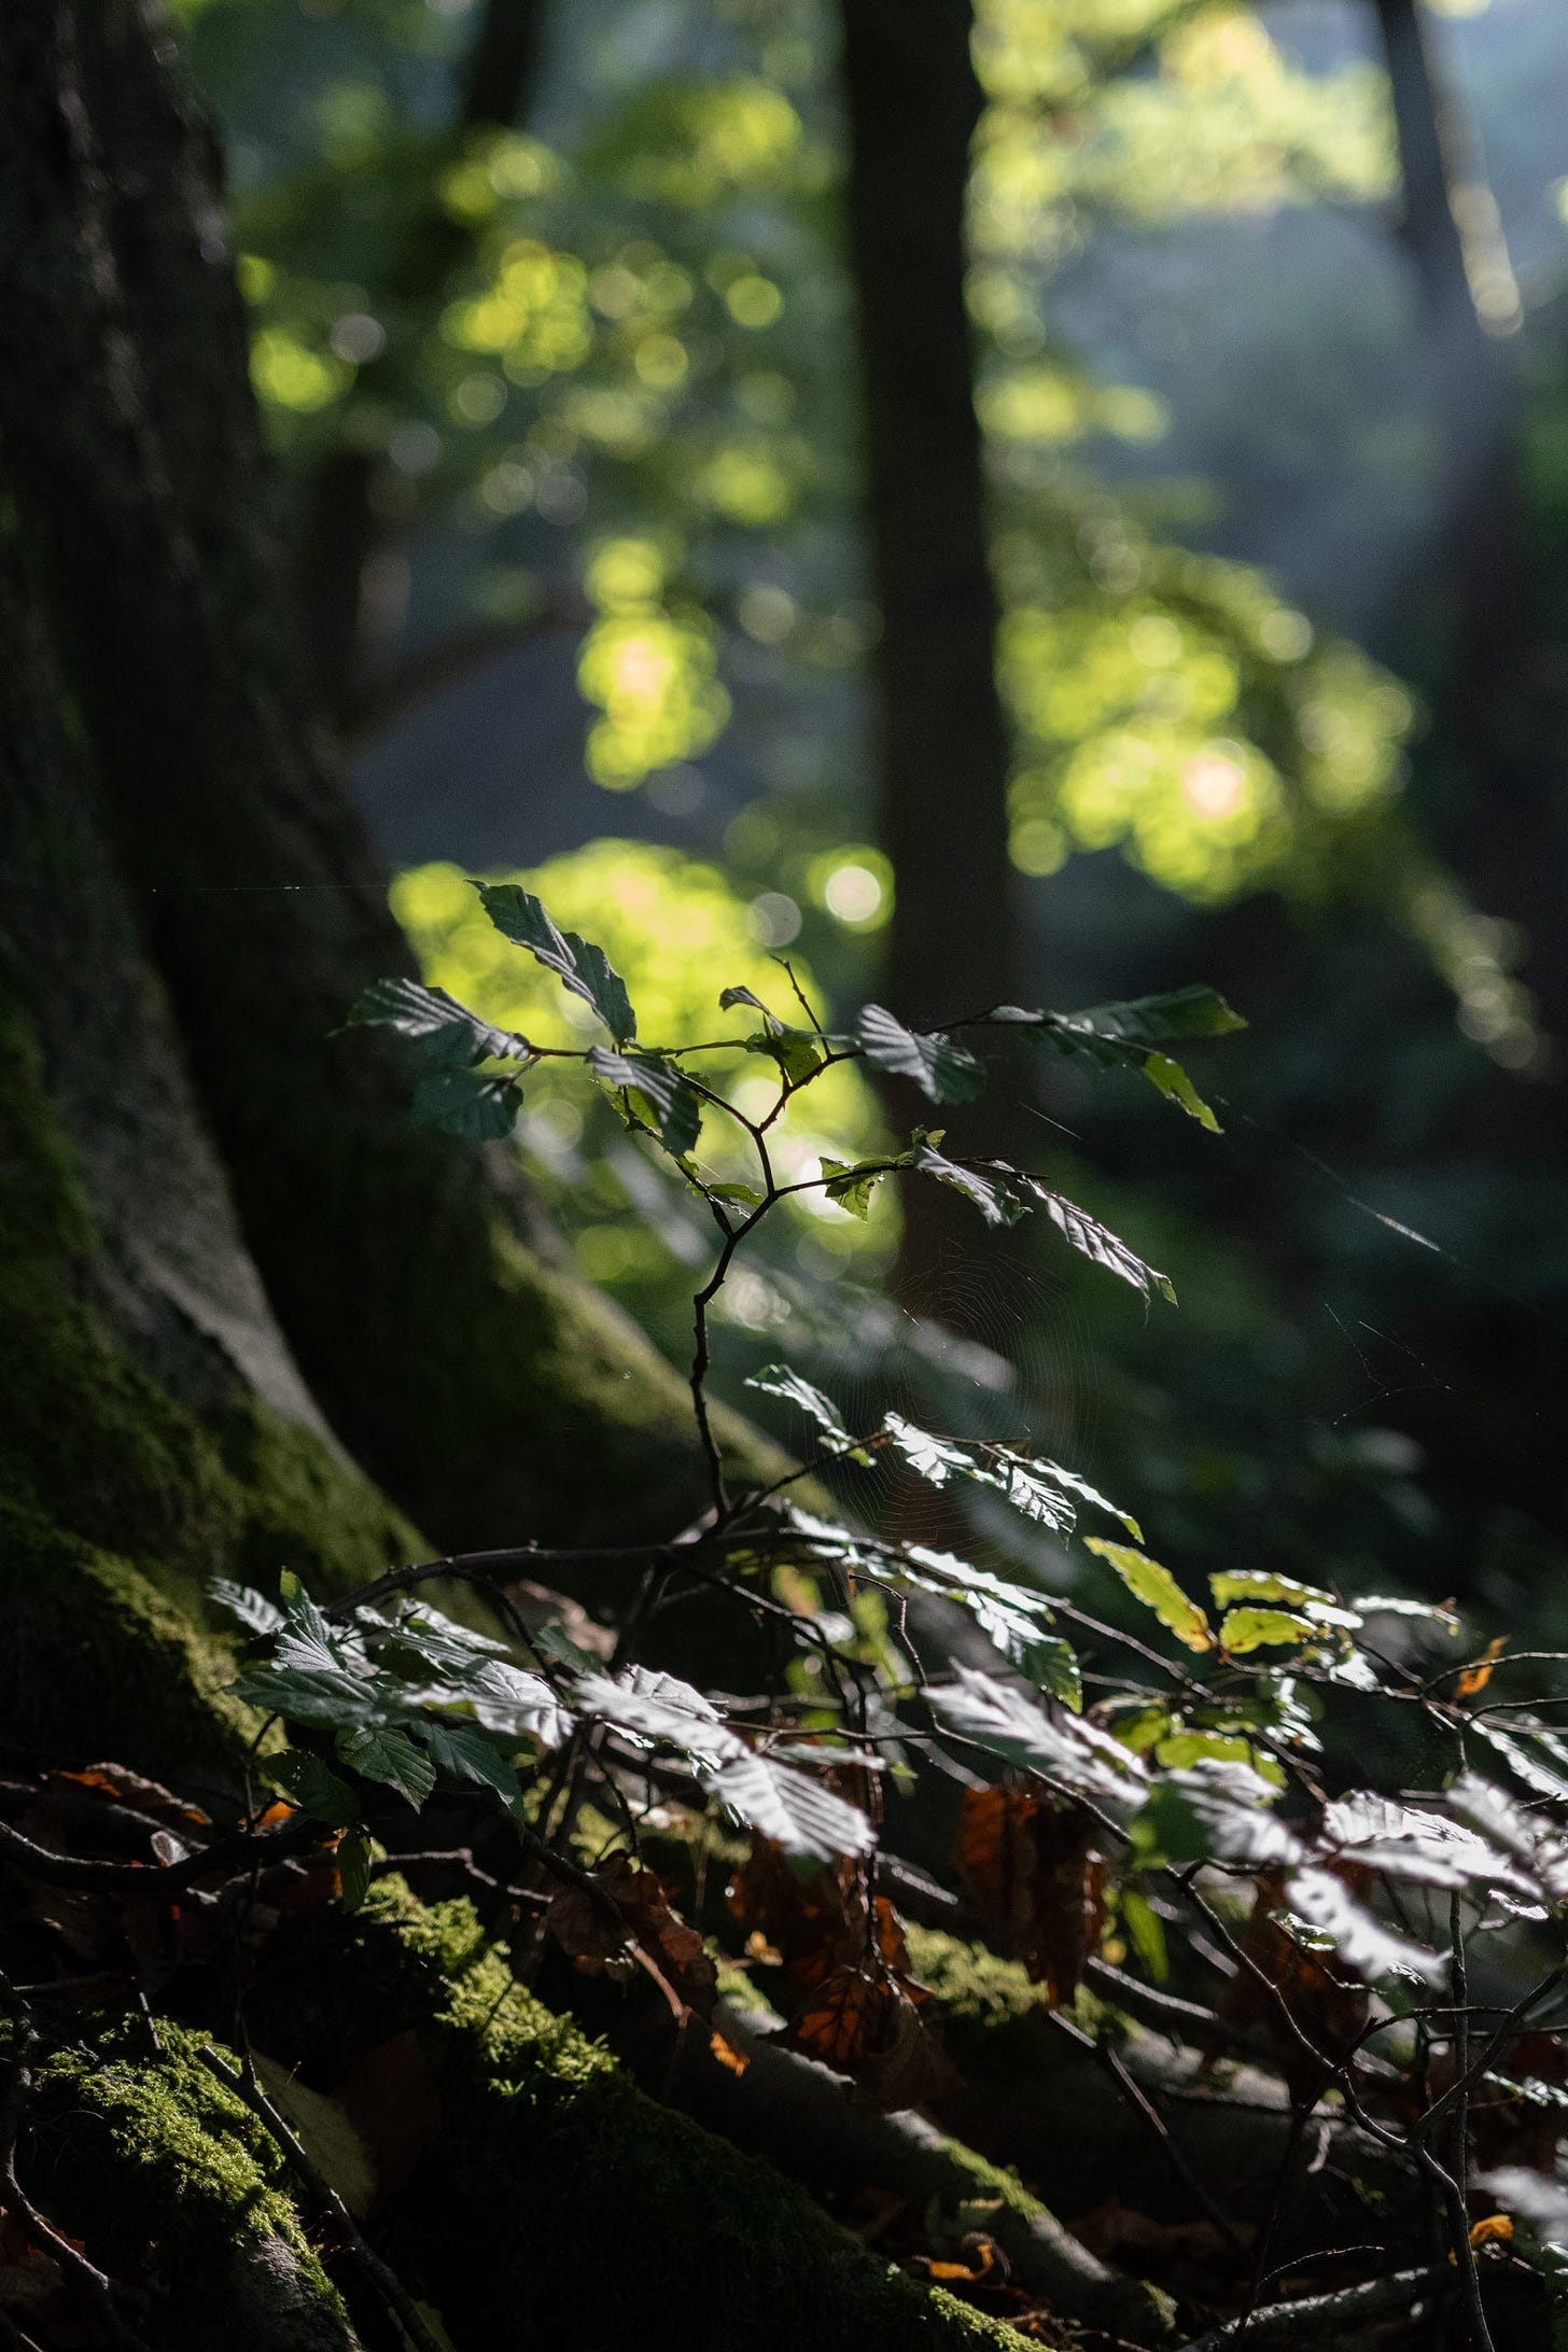
[[[1020,995],[1009,858],[1009,729],[997,691],[973,339],[964,280],[980,85],[969,0],[842,0],[849,249],[860,315],[865,517],[882,628],[872,656],[879,837],[893,861],[884,988],[940,1021]],[[964,1145],[1023,1148],[1011,1084],[950,1120]],[[900,1096],[898,1115],[910,1101]],[[957,1308],[971,1254],[940,1188],[903,1202],[900,1289]],[[961,1289],[961,1284],[959,1284]]]

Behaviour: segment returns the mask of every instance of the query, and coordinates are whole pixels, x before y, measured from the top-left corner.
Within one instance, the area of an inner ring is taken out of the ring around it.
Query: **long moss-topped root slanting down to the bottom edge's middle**
[[[268,1969],[263,1997],[256,2032],[322,2089],[357,2051],[416,2030],[447,2129],[400,2201],[395,2237],[458,2343],[1016,2343],[865,2253],[769,2164],[646,2098],[512,1980],[465,1903],[423,1910],[383,1886],[353,1931],[301,1929],[294,1966]]]

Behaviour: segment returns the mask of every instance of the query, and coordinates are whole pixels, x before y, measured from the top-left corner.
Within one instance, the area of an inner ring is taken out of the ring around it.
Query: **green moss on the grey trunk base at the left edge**
[[[212,1573],[346,1590],[418,1536],[313,1430],[256,1397],[205,1421],[89,1303],[92,1218],[0,995],[0,1717],[7,1738],[150,1771],[233,1755]]]

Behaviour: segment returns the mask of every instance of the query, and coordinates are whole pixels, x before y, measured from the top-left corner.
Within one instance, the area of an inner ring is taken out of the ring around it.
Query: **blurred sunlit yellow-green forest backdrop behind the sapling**
[[[832,12],[179,14],[317,687],[390,854],[442,851],[395,884],[430,976],[543,1018],[463,861],[524,868],[602,938],[649,1033],[719,1018],[719,985],[788,995],[783,953],[827,1007],[872,995],[919,908],[872,790]],[[1128,1089],[1077,1171],[1190,1270],[1180,1336],[1098,1298],[1091,1359],[1056,1261],[1006,1305],[950,1268],[940,1343],[889,1322],[891,1202],[802,1209],[724,1303],[736,1374],[792,1319],[797,1359],[947,1381],[950,1418],[964,1381],[1023,1383],[1107,1477],[1133,1456],[1164,1486],[1171,1550],[1267,1510],[1319,1578],[1382,1559],[1497,1604],[1563,1536],[1533,1416],[1568,1275],[1568,176],[1521,106],[1481,158],[1467,92],[1500,118],[1561,71],[1549,16],[978,0],[966,303],[1023,969],[1032,1002],[1201,969],[1253,1028],[1213,1162]],[[811,1117],[872,1148],[877,1101],[832,1087]],[[1051,1087],[1046,1160],[1077,1105],[1072,1073]],[[679,1352],[679,1185],[545,1082],[524,1150],[585,1272]]]

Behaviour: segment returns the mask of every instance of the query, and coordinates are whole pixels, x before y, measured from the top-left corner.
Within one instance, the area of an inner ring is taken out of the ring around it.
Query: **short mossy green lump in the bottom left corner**
[[[282,2154],[167,2020],[141,2020],[38,2070],[31,2169],[54,2220],[110,2277],[148,2260],[158,2338],[240,2352],[348,2352],[343,2303],[284,2192]]]

